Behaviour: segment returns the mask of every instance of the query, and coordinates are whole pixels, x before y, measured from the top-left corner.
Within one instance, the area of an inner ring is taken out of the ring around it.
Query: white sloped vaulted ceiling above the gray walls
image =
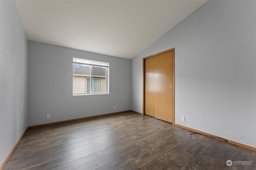
[[[132,59],[206,0],[16,0],[29,40]]]

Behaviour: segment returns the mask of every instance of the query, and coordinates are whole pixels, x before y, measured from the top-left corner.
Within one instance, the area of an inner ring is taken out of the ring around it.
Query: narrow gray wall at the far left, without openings
[[[27,120],[28,41],[15,2],[0,0],[0,165]]]

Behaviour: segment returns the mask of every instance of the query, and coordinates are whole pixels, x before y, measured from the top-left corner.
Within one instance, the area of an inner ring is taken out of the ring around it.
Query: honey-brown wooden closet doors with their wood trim
[[[143,60],[144,114],[174,123],[174,49]]]

